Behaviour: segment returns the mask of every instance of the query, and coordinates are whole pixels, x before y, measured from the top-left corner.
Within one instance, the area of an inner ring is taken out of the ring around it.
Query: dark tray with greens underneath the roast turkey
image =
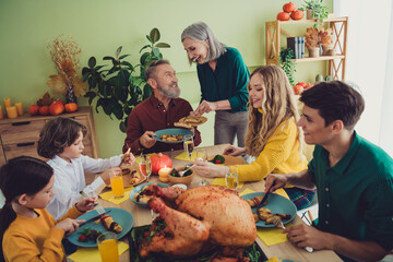
[[[156,231],[163,229],[165,227],[165,222],[158,223],[156,226]],[[175,259],[175,258],[167,258],[163,254],[153,254],[148,258],[142,258],[139,252],[139,248],[143,241],[148,241],[148,234],[151,233],[151,225],[140,226],[132,228],[131,233],[129,234],[129,243],[130,243],[130,261],[133,262],[164,262],[164,261],[171,261],[171,262],[207,262],[211,261],[215,255],[217,255],[217,249],[212,249],[209,252],[196,254],[192,258],[188,259]],[[251,262],[262,262],[266,261],[267,258],[263,253],[262,249],[258,246],[257,242],[245,249],[243,257],[249,258]]]

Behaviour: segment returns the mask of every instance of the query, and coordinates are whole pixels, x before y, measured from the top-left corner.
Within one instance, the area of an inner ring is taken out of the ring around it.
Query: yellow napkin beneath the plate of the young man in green
[[[253,192],[254,191],[252,191],[251,189],[245,189],[245,191],[242,191],[240,195],[245,195]],[[289,199],[288,194],[285,192],[284,189],[277,189],[274,193]],[[291,227],[291,226],[293,226],[291,223],[285,225],[285,227]],[[258,227],[257,235],[264,245],[270,247],[273,245],[288,241],[288,239],[286,238],[286,234],[282,234],[282,230],[283,228],[276,228],[276,227]]]

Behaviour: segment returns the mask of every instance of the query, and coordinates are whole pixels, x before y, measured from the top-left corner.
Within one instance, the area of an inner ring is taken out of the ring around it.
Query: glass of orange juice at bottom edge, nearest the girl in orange
[[[119,262],[117,235],[112,231],[103,233],[97,237],[98,251],[102,262]]]

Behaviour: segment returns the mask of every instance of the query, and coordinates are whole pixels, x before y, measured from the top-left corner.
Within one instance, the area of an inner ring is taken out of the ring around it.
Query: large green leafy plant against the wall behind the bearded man
[[[82,70],[83,81],[88,83],[88,92],[85,94],[85,97],[88,97],[88,104],[92,105],[95,102],[97,112],[102,107],[110,119],[114,115],[120,120],[119,129],[122,132],[127,131],[127,120],[132,109],[152,94],[152,87],[147,84],[144,74],[145,68],[151,61],[163,58],[159,48],[170,47],[166,43],[157,43],[160,38],[157,28],[153,28],[146,38],[150,44],[141,48],[142,55],[136,66],[124,60],[130,55],[120,55],[122,50],[120,46],[115,57],[103,58],[104,61],[110,61],[110,66],[98,66],[96,58],[91,57],[87,67]]]

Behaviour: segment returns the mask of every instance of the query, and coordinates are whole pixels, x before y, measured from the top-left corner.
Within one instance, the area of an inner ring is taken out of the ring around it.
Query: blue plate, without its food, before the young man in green
[[[253,198],[257,198],[260,195],[264,195],[264,193],[261,193],[261,192],[249,193],[249,194],[242,195],[242,198],[245,200],[249,200],[249,199],[253,199]],[[283,219],[283,224],[287,224],[288,222],[291,222],[295,218],[296,211],[297,211],[296,205],[290,200],[288,200],[279,194],[275,194],[275,193],[270,193],[267,195],[267,204],[262,207],[267,207],[272,213],[275,213],[275,214],[289,214],[290,218]],[[257,213],[257,207],[252,207],[252,212]],[[273,224],[266,225],[266,223],[264,221],[259,221],[257,223],[257,226],[259,226],[259,227],[275,227]]]

